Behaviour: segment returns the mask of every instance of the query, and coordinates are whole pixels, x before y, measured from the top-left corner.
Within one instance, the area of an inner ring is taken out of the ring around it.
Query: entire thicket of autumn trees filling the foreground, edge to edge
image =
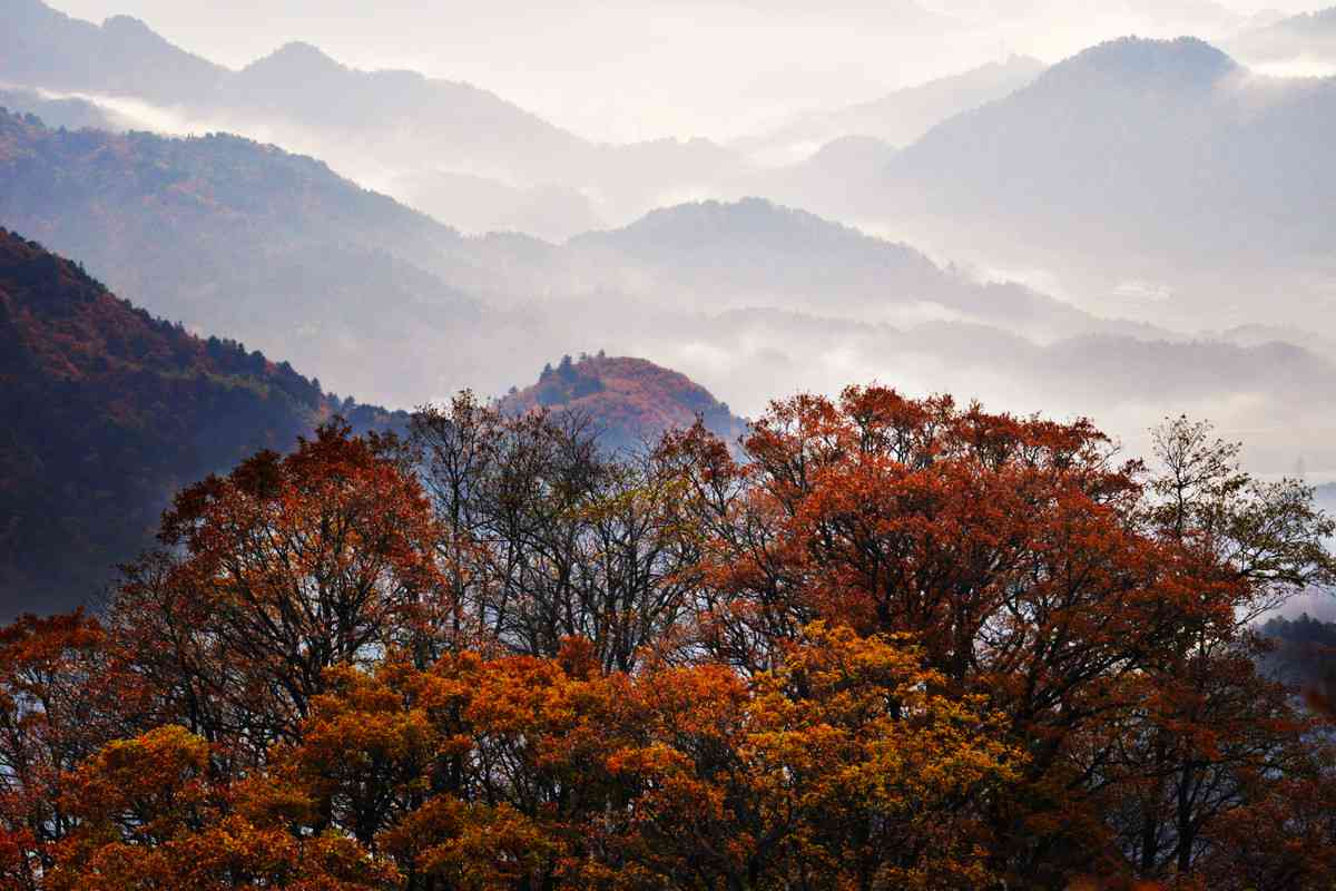
[[[0,883],[1329,887],[1327,719],[1249,631],[1333,580],[1311,490],[882,387],[740,453],[465,394],[186,489],[0,640]]]

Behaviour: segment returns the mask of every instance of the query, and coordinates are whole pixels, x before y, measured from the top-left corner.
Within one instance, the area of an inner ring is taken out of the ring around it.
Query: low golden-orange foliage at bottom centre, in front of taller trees
[[[812,627],[774,672],[445,656],[346,668],[274,775],[407,888],[985,884],[1021,753],[904,641]]]

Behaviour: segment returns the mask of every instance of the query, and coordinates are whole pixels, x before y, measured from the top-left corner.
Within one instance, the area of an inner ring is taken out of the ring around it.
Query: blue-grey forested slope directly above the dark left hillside
[[[422,331],[478,317],[442,279],[473,263],[457,232],[234,136],[55,131],[0,112],[0,222],[154,313],[327,367],[339,389],[377,399],[401,395],[371,387],[410,370]],[[390,367],[357,374],[369,345],[395,339]]]

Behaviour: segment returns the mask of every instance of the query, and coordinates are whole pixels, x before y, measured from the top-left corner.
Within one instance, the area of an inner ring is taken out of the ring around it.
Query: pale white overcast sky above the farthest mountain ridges
[[[1320,0],[1319,0],[1320,1]],[[727,139],[803,107],[871,99],[1029,53],[1055,61],[1125,33],[1217,37],[1261,7],[1210,0],[53,0],[146,20],[231,67],[289,40],[355,67],[468,80],[605,140]]]

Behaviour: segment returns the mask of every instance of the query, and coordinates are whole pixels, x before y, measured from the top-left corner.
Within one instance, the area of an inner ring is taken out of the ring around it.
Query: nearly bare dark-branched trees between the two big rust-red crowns
[[[584,637],[627,671],[687,620],[699,536],[676,468],[605,454],[578,415],[506,417],[472,394],[420,411],[413,439],[474,635],[533,656]]]

